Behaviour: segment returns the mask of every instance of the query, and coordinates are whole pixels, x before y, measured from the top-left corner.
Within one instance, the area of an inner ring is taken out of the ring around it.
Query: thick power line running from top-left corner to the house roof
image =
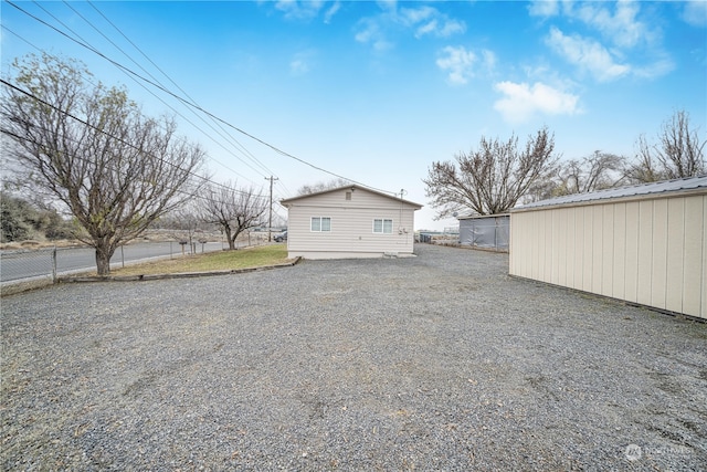
[[[250,133],[247,133],[247,132],[245,132],[245,130],[243,130],[243,129],[241,129],[241,128],[239,128],[238,126],[232,125],[231,123],[226,122],[225,119],[222,119],[222,118],[220,118],[220,117],[215,116],[214,114],[212,114],[212,113],[210,113],[210,112],[205,111],[205,109],[204,109],[204,108],[202,108],[201,106],[199,106],[199,105],[197,105],[197,104],[194,104],[194,103],[191,103],[190,101],[186,99],[184,97],[181,97],[181,96],[179,96],[178,94],[176,94],[176,93],[173,93],[173,92],[169,91],[168,88],[163,87],[162,85],[160,85],[160,84],[158,84],[158,83],[156,83],[156,82],[154,82],[154,81],[150,81],[149,78],[146,78],[145,76],[143,76],[143,75],[140,75],[140,74],[138,74],[137,72],[135,72],[135,71],[133,71],[133,70],[130,70],[129,67],[126,67],[125,65],[123,65],[123,64],[120,64],[120,63],[118,63],[118,62],[116,62],[116,61],[114,61],[114,60],[109,59],[108,56],[106,56],[105,54],[103,54],[102,52],[99,52],[98,50],[96,50],[95,48],[93,48],[93,46],[91,46],[91,45],[88,45],[88,44],[85,44],[84,42],[78,41],[78,40],[76,40],[76,39],[74,39],[74,38],[70,36],[70,35],[68,35],[68,34],[66,34],[65,32],[63,32],[63,31],[61,31],[60,29],[57,29],[57,28],[53,27],[52,24],[49,24],[49,23],[48,23],[48,22],[45,22],[44,20],[42,20],[42,19],[40,19],[40,18],[35,17],[34,14],[32,14],[32,13],[28,12],[27,10],[24,10],[24,9],[20,8],[19,6],[14,4],[13,2],[11,2],[11,1],[9,1],[9,0],[6,0],[6,1],[7,1],[7,3],[8,3],[8,4],[10,4],[11,7],[13,7],[13,8],[18,9],[19,11],[21,11],[21,12],[23,12],[24,14],[29,15],[30,18],[32,18],[32,19],[34,19],[34,20],[36,20],[36,21],[39,21],[40,23],[42,23],[42,24],[44,24],[44,25],[46,25],[46,27],[49,27],[49,28],[51,28],[52,30],[56,31],[57,33],[60,33],[61,35],[63,35],[63,36],[67,38],[68,40],[71,40],[71,41],[75,42],[76,44],[81,45],[82,48],[85,48],[85,49],[89,50],[91,52],[93,52],[93,53],[97,54],[98,56],[101,56],[101,57],[105,59],[106,61],[110,62],[110,63],[112,63],[112,64],[114,64],[116,67],[119,67],[119,69],[122,69],[122,70],[126,71],[127,73],[129,73],[129,74],[131,74],[131,75],[135,75],[136,77],[140,78],[141,81],[144,81],[144,82],[146,82],[146,83],[148,83],[148,84],[150,84],[150,85],[152,85],[152,86],[155,86],[155,87],[159,88],[160,91],[165,92],[165,93],[166,93],[166,94],[168,94],[168,95],[171,95],[172,97],[177,98],[179,102],[183,103],[184,105],[190,106],[190,107],[193,107],[194,109],[197,109],[197,111],[199,111],[199,112],[201,112],[201,113],[205,114],[207,116],[209,116],[209,117],[211,117],[211,118],[215,119],[217,122],[222,123],[224,126],[226,126],[226,127],[229,127],[229,128],[232,128],[232,129],[236,130],[238,133],[240,133],[240,134],[242,134],[242,135],[244,135],[244,136],[246,136],[246,137],[249,137],[249,138],[251,138],[251,139],[255,140],[256,143],[262,144],[263,146],[268,147],[270,149],[274,150],[275,153],[279,154],[281,156],[288,157],[288,158],[294,159],[294,160],[296,160],[296,161],[298,161],[298,162],[300,162],[300,164],[303,164],[303,165],[306,165],[306,166],[308,166],[308,167],[312,167],[313,169],[319,170],[319,171],[321,171],[321,172],[328,174],[328,175],[334,176],[334,177],[337,177],[337,178],[339,178],[339,179],[348,180],[348,181],[350,181],[350,182],[352,182],[352,183],[357,183],[357,185],[359,185],[359,186],[361,186],[361,187],[366,187],[366,188],[369,188],[369,189],[372,189],[372,190],[377,190],[377,191],[380,191],[380,192],[383,192],[383,193],[392,193],[392,195],[394,195],[394,192],[391,192],[391,191],[388,191],[388,190],[378,189],[378,188],[374,188],[374,187],[368,186],[368,185],[366,185],[366,183],[359,182],[359,181],[357,181],[357,180],[355,180],[355,179],[350,179],[350,178],[344,177],[344,176],[341,176],[341,175],[339,175],[339,174],[333,172],[333,171],[327,170],[327,169],[325,169],[325,168],[323,168],[323,167],[319,167],[319,166],[316,166],[316,165],[314,165],[314,164],[312,164],[312,162],[308,162],[308,161],[306,161],[306,160],[304,160],[304,159],[302,159],[302,158],[299,158],[299,157],[296,157],[296,156],[294,156],[294,155],[292,155],[292,154],[289,154],[289,153],[286,153],[286,151],[282,150],[282,149],[279,149],[278,147],[276,147],[276,146],[274,146],[274,145],[272,145],[272,144],[270,144],[270,143],[267,143],[267,141],[265,141],[265,140],[263,140],[263,139],[261,139],[261,138],[258,138],[258,137],[256,137],[256,136],[254,136],[254,135],[252,135],[252,134],[250,134]]]

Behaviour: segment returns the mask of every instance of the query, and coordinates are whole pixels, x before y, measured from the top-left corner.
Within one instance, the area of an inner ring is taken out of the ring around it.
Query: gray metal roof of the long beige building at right
[[[534,203],[517,207],[515,210],[526,210],[538,207],[555,207],[558,204],[572,204],[593,202],[597,200],[609,200],[616,198],[630,198],[642,196],[656,196],[662,193],[685,192],[704,189],[707,192],[707,176],[687,177],[684,179],[664,180],[661,182],[642,183],[630,187],[611,188],[589,193],[566,195],[563,197],[540,200]]]

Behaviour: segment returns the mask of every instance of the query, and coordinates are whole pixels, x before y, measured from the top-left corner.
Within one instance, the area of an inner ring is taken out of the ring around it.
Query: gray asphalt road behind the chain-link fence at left
[[[213,252],[223,248],[221,242],[197,243],[196,252]],[[184,248],[189,251],[189,247]],[[0,282],[51,276],[53,249],[36,251],[0,251]],[[118,248],[110,259],[112,266],[122,266],[151,258],[180,255],[182,247],[177,241],[141,242]],[[89,271],[96,268],[95,252],[92,248],[61,248],[56,250],[56,272]]]

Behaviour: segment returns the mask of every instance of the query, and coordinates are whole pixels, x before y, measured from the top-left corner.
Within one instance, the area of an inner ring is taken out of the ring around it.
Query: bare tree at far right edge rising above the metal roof
[[[687,112],[678,111],[663,123],[657,138],[657,144],[651,144],[645,135],[639,137],[635,162],[626,169],[629,179],[653,182],[707,174],[707,141],[700,139],[698,129],[690,129]]]

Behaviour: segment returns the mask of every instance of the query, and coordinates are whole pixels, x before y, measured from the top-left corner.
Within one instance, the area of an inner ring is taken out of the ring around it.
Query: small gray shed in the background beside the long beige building
[[[508,252],[510,214],[460,217],[460,244]]]

